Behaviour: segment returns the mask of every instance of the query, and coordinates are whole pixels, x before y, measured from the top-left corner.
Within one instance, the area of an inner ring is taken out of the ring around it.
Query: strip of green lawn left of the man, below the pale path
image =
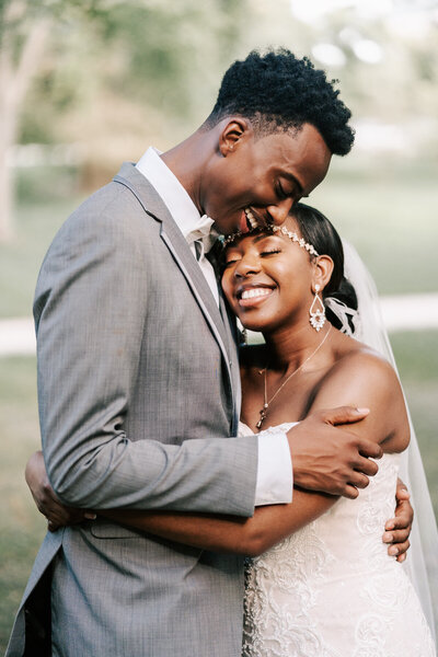
[[[35,358],[0,359],[0,653],[30,568],[45,534],[24,482],[24,464],[39,445]]]

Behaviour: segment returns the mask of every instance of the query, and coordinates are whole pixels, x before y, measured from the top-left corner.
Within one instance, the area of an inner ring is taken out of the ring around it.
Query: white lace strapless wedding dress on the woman
[[[414,588],[382,543],[399,461],[384,454],[358,499],[247,561],[243,657],[435,657]]]

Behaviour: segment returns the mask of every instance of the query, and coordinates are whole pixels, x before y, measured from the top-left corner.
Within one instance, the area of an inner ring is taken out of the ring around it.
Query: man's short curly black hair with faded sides
[[[265,55],[253,50],[223,76],[205,127],[232,115],[249,118],[256,134],[299,130],[309,123],[332,153],[345,155],[351,149],[354,130],[347,125],[351,113],[339,100],[336,83],[310,59],[298,59],[286,48]]]

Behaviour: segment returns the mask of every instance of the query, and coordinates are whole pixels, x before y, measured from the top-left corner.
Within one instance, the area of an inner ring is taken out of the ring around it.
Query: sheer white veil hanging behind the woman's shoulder
[[[388,333],[383,325],[374,281],[351,244],[343,241],[343,245],[345,276],[356,290],[359,306],[355,337],[379,351],[396,370]],[[403,453],[400,476],[411,493],[411,504],[414,507],[415,518],[410,539],[411,549],[403,568],[406,569],[417,591],[423,611],[436,641],[438,630],[438,531],[410,413],[408,416],[411,443]]]

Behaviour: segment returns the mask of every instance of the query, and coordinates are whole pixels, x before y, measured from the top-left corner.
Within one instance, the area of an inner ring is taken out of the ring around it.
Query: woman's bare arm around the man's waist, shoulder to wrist
[[[359,372],[359,373],[358,373]],[[348,382],[348,388],[346,385]],[[382,443],[385,451],[402,451],[408,443],[408,422],[400,384],[392,368],[370,354],[356,354],[335,365],[321,383],[310,408],[365,400],[371,412],[354,431]],[[231,518],[104,511],[104,516],[142,531],[216,551],[257,555],[324,514],[336,498],[296,489],[289,505],[263,507],[241,522]]]

